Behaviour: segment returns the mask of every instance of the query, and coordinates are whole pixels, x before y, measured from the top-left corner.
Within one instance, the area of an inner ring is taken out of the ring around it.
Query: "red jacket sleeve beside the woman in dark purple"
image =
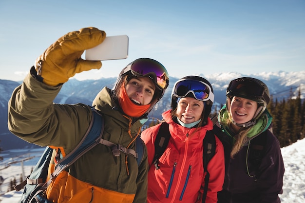
[[[215,155],[211,158],[208,164],[208,171],[210,173],[210,180],[208,185],[208,192],[206,197],[206,203],[217,203],[217,192],[222,190],[225,179],[225,154],[224,147],[217,136]],[[203,194],[203,188],[205,186],[204,178],[202,180],[201,196]]]

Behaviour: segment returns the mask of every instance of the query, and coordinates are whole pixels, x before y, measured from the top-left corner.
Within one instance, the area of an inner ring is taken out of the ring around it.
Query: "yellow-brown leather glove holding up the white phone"
[[[65,83],[84,70],[99,69],[100,61],[86,61],[82,53],[104,41],[106,33],[97,28],[83,28],[60,37],[35,61],[37,74],[51,86]]]

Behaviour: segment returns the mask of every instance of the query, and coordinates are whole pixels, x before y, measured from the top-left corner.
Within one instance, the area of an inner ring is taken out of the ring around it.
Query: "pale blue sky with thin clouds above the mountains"
[[[127,59],[76,79],[116,77],[136,58],[173,77],[305,70],[304,0],[0,0],[0,79],[22,80],[60,36],[84,27],[127,34]]]

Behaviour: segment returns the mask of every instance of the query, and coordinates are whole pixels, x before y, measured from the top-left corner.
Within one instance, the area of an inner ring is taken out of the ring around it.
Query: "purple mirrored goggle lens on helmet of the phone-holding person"
[[[142,59],[132,64],[131,70],[139,75],[150,75],[154,73],[156,76],[156,85],[165,89],[169,84],[169,74],[162,64],[151,59]]]

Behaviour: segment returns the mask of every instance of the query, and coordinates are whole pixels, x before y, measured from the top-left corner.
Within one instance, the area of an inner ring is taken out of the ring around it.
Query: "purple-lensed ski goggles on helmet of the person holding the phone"
[[[128,71],[131,71],[134,76],[148,76],[152,78],[155,85],[161,90],[165,90],[169,85],[169,74],[167,70],[161,63],[153,59],[137,59],[128,64],[127,67],[122,70],[120,75],[123,75]]]

